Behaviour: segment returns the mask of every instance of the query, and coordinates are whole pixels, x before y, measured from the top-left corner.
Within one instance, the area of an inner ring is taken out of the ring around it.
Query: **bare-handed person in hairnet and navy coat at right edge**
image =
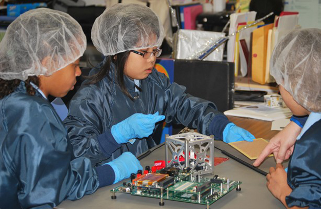
[[[280,163],[270,168],[267,187],[286,208],[321,208],[321,30],[293,30],[282,38],[270,72],[292,113],[309,116],[291,142],[288,173]]]

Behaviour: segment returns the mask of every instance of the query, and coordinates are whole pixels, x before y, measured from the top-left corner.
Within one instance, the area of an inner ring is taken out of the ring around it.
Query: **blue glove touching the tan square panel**
[[[223,131],[223,142],[231,143],[236,141],[249,141],[253,142],[255,137],[245,129],[236,126],[234,123],[226,125]]]

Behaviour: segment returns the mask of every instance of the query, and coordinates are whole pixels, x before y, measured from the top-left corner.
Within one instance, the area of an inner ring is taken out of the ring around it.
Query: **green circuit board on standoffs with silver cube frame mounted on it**
[[[229,180],[214,175],[214,137],[196,132],[166,135],[166,168],[144,174],[132,173],[131,180],[110,190],[112,199],[115,193],[127,193],[163,200],[207,205],[213,204],[233,189],[240,191],[240,181]]]

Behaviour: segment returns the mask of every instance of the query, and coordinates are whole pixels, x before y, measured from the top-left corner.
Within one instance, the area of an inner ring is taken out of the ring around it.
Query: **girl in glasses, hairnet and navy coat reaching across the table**
[[[156,145],[154,127],[164,119],[226,143],[254,139],[215,104],[154,69],[163,38],[160,19],[147,6],[115,4],[96,19],[91,39],[106,58],[75,94],[64,120],[75,156],[97,165],[126,151],[140,155]]]

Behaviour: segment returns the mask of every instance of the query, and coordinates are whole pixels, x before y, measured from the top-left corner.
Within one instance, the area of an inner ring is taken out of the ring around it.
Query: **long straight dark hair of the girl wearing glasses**
[[[107,57],[106,63],[101,67],[100,71],[96,73],[95,75],[86,77],[89,79],[89,82],[87,84],[95,84],[99,81],[101,81],[105,76],[112,81],[112,78],[109,77],[109,71],[110,71],[110,64],[114,63],[116,66],[116,76],[117,76],[117,83],[121,89],[121,91],[128,96],[132,101],[134,101],[133,97],[129,94],[124,81],[124,70],[126,61],[128,59],[128,56],[130,54],[130,51],[121,52],[112,56]],[[141,88],[135,85],[135,87],[142,91]]]

